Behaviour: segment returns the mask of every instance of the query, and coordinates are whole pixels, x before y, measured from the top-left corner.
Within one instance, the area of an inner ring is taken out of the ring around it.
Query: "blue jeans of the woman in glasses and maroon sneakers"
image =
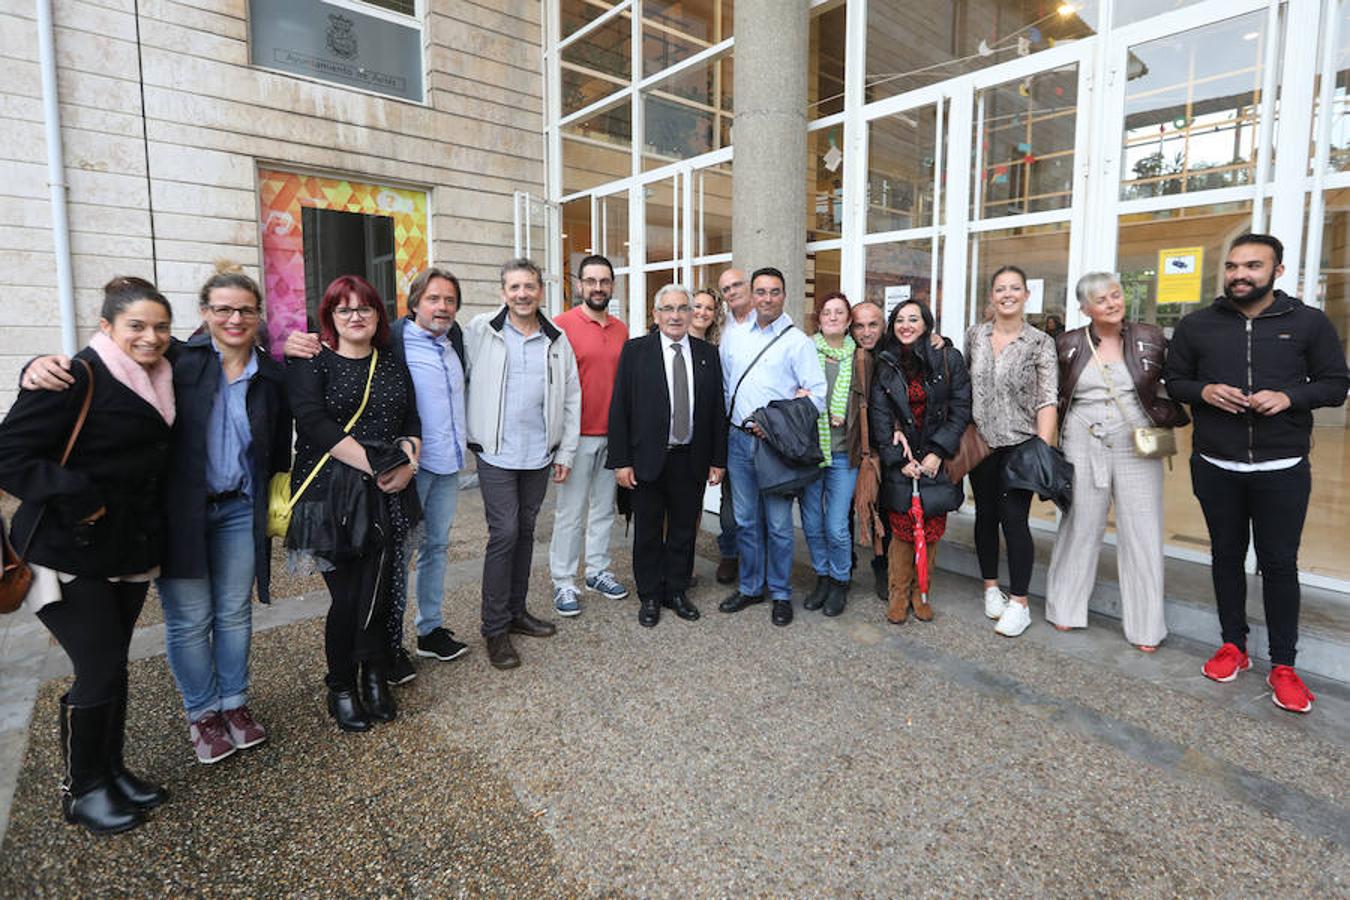
[[[162,578],[165,648],[188,719],[248,702],[252,499],[207,503],[207,578]]]

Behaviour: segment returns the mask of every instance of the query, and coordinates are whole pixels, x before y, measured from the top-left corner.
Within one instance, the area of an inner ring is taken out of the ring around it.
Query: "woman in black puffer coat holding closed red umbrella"
[[[971,422],[971,378],[960,351],[933,348],[933,313],[917,301],[900,304],[882,339],[869,403],[872,440],[882,457],[882,497],[891,525],[887,553],[890,606],[886,618],[899,625],[914,604],[914,618],[927,622],[933,607],[919,595],[914,567],[914,519],[909,514],[914,479],[933,497],[948,497],[948,509],[925,509],[923,537],[932,571],[946,513],[961,505],[961,486],[946,480],[942,461],[956,455]]]

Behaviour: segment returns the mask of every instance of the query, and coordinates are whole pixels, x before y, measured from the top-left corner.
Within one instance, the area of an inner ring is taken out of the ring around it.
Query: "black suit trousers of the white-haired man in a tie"
[[[687,448],[670,449],[655,482],[633,491],[633,580],[637,595],[664,600],[688,590],[694,534],[707,472],[695,472]]]

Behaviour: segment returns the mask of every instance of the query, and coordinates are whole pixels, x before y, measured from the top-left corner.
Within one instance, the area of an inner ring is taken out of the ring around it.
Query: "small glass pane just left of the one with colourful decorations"
[[[867,231],[936,224],[937,107],[873,119],[868,132]]]

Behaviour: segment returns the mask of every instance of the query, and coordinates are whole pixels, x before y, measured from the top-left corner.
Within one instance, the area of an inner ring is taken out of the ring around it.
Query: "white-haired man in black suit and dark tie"
[[[666,285],[653,304],[656,331],[624,344],[609,406],[609,461],[633,490],[637,621],[652,627],[662,607],[694,621],[684,591],[703,482],[726,467],[726,410],[717,349],[688,336],[690,294]]]

